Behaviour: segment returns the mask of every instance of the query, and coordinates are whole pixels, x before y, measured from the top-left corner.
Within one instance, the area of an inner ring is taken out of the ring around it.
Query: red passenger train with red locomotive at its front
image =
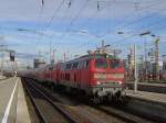
[[[50,64],[35,69],[33,77],[82,93],[94,102],[122,99],[125,94],[123,60],[105,54],[89,54]]]

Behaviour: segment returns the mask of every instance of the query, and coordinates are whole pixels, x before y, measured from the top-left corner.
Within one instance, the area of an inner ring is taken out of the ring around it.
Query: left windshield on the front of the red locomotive
[[[107,68],[107,62],[105,58],[96,58],[95,59],[95,67],[96,68]]]

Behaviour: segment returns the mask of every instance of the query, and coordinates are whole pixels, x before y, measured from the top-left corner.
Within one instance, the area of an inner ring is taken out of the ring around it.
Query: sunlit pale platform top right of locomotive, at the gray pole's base
[[[166,94],[165,93],[156,93],[156,92],[147,92],[147,91],[137,91],[126,89],[126,96],[137,99],[143,99],[152,102],[166,104]]]

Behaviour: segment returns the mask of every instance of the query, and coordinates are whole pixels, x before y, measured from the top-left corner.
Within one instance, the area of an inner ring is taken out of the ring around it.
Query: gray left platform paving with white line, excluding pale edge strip
[[[15,109],[15,104],[17,104],[15,93],[14,93],[15,86],[17,86],[15,78],[10,78],[0,81],[0,121],[2,123],[4,123],[7,119],[9,119],[10,122],[14,122],[15,115],[14,113],[10,114],[9,109],[11,109],[11,112],[14,112],[13,110]],[[13,93],[13,98],[11,97],[12,93]]]

